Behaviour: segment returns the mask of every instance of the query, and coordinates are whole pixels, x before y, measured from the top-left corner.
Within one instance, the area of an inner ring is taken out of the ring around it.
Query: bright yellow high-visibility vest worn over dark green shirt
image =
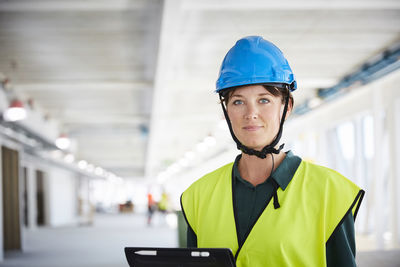
[[[227,164],[194,182],[181,196],[182,211],[199,248],[230,248],[238,267],[326,266],[325,244],[347,212],[354,218],[364,191],[341,174],[302,161],[239,248]],[[250,208],[250,207],[249,207]]]

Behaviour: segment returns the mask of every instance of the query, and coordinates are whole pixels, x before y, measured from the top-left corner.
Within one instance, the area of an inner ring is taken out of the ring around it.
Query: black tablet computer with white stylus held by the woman
[[[126,247],[130,267],[235,267],[228,248]]]

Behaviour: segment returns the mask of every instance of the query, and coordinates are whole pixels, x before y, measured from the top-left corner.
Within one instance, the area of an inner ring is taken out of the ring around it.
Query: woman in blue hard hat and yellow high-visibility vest
[[[282,52],[262,37],[229,50],[216,91],[242,153],[182,194],[189,247],[228,247],[239,267],[356,265],[364,191],[279,146],[296,88]]]

